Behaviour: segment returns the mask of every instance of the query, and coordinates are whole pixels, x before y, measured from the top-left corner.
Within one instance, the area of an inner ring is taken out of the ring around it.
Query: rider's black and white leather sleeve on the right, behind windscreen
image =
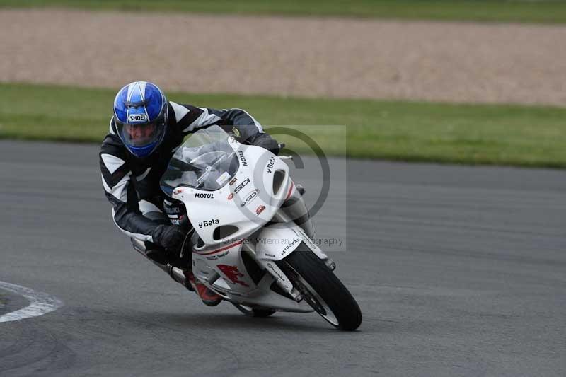
[[[277,154],[279,147],[277,141],[263,131],[260,122],[255,120],[246,110],[213,108],[197,108],[192,105],[180,105],[170,102],[177,124],[183,134],[189,134],[197,129],[209,127],[213,124],[224,126],[228,132],[236,134],[241,142],[262,146],[263,148]]]

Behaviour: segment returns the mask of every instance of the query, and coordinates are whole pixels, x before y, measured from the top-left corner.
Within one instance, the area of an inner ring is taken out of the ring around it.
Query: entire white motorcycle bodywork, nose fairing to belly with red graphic
[[[229,138],[229,145],[238,157],[239,168],[233,176],[216,179],[219,190],[180,185],[172,191],[171,197],[185,204],[195,228],[192,271],[233,303],[312,312],[275,263],[293,253],[301,242],[320,259],[330,261],[304,231],[306,228],[313,233],[310,218],[304,228],[289,218],[293,207],[306,211],[289,167],[258,146],[245,146],[233,138]],[[286,202],[294,204],[282,209]]]

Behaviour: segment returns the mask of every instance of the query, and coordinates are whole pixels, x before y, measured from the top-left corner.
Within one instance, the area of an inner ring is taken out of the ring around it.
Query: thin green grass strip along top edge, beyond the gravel
[[[514,23],[566,22],[566,4],[560,0],[0,0],[0,7]]]

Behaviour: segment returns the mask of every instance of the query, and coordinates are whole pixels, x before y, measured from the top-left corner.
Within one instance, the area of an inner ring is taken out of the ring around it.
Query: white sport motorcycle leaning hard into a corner
[[[187,235],[192,272],[246,315],[316,311],[334,327],[355,330],[362,313],[333,273],[335,262],[313,242],[304,189],[285,159],[218,126],[175,151],[160,184],[187,209],[173,224],[185,219],[194,228]],[[185,279],[178,267],[171,274]]]

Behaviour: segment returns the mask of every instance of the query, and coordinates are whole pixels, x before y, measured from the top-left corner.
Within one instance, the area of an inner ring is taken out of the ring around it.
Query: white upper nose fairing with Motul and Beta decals
[[[173,190],[173,199],[185,204],[190,223],[204,243],[200,248],[195,246],[199,252],[226,246],[231,240],[241,240],[257,231],[275,216],[294,190],[289,167],[275,154],[235,139],[230,139],[230,146],[240,167],[228,185],[216,191],[182,186]],[[255,162],[255,169],[248,161]],[[260,163],[265,168],[260,168]]]

